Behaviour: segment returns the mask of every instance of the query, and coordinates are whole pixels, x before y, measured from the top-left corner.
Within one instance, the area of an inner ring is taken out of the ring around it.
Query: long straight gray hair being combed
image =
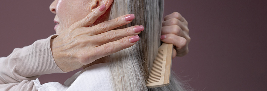
[[[185,86],[171,75],[169,86],[147,88],[149,68],[152,67],[157,49],[160,46],[160,35],[163,18],[164,0],[114,0],[109,19],[121,15],[134,14],[135,19],[128,25],[144,25],[139,34],[140,40],[132,47],[106,57],[112,75],[115,91],[185,91]]]

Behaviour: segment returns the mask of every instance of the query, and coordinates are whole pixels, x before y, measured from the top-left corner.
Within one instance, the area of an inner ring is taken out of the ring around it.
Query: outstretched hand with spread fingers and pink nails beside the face
[[[54,60],[64,72],[79,69],[96,59],[126,49],[139,40],[138,34],[144,30],[143,26],[112,30],[132,22],[134,15],[123,15],[88,27],[106,11],[104,5],[98,8],[51,39]]]

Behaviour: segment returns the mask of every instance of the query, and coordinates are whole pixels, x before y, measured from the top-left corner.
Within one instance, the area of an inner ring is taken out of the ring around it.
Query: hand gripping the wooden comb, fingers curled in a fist
[[[178,12],[173,12],[164,18],[161,30],[161,41],[174,45],[173,58],[188,53],[189,37],[188,22]]]

